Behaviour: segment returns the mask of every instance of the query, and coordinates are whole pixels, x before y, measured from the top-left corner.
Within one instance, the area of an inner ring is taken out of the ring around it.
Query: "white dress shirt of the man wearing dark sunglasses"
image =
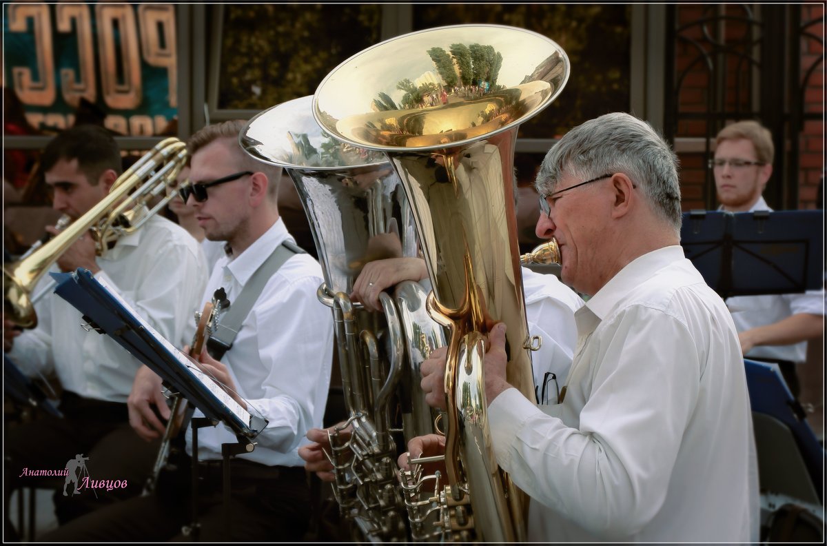
[[[239,256],[219,259],[203,303],[223,288],[232,309],[251,275],[285,239],[293,241],[279,219]],[[256,448],[239,457],[268,466],[304,466],[299,446],[308,443],[308,429],[322,426],[333,357],[331,310],[316,297],[322,283],[322,267],[313,256],[291,256],[267,281],[222,357],[247,410],[269,421],[255,438]],[[199,429],[198,460],[220,459],[221,444],[236,442],[224,424]],[[191,450],[189,429],[187,452]]]

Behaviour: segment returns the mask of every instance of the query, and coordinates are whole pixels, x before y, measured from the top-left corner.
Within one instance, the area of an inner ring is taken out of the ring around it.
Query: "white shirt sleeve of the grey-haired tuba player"
[[[700,384],[697,349],[680,321],[632,307],[611,322],[599,327],[613,333],[600,338],[578,428],[514,389],[489,406],[495,453],[514,483],[609,537],[638,532],[660,509]]]

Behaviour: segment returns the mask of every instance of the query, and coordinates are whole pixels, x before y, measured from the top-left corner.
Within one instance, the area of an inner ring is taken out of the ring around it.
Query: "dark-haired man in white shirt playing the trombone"
[[[53,208],[72,221],[106,198],[122,173],[117,141],[103,127],[81,125],[55,136],[41,156],[41,170]],[[48,231],[56,234],[54,227]],[[102,256],[89,233],[66,247],[51,271],[84,268],[126,299],[165,338],[192,338],[192,313],[207,281],[198,243],[160,215],[121,237]],[[32,296],[38,325],[15,330],[4,320],[8,357],[31,376],[54,372],[60,381],[64,419],[43,415],[5,431],[6,491],[26,486],[23,467],[61,469],[77,453],[88,457],[91,479],[128,483],[110,491],[79,491],[64,496],[55,486],[60,524],[113,501],[141,493],[158,444],[146,444],[128,423],[127,396],[141,363],[117,342],[80,328],[81,314],[53,295],[44,275]],[[39,294],[45,295],[38,299]],[[31,483],[31,478],[28,480]],[[8,499],[7,499],[8,500]],[[7,530],[13,530],[7,525]]]

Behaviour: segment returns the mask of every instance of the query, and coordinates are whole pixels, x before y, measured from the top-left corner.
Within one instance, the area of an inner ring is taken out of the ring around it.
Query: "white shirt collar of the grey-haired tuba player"
[[[683,247],[680,245],[658,248],[638,256],[598,290],[597,294],[586,302],[585,307],[596,319],[603,320],[629,292],[643,285],[657,271],[685,258]]]

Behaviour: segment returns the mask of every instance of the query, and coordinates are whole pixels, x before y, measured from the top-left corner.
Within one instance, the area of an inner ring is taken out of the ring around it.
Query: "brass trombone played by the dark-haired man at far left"
[[[146,220],[174,197],[175,179],[187,160],[186,145],[177,138],[160,141],[115,180],[106,197],[83,216],[70,223],[49,242],[26,257],[3,264],[3,311],[22,328],[35,328],[37,314],[30,297],[37,281],[50,266],[91,230],[98,256],[110,242],[141,227]],[[146,205],[166,192],[153,208]],[[43,292],[41,291],[41,294]]]

